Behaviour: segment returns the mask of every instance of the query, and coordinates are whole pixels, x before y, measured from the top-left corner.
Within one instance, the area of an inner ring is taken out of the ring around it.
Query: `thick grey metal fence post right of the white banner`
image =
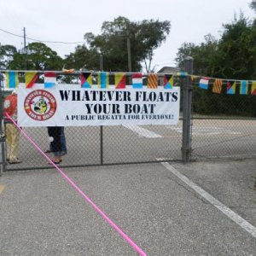
[[[193,74],[193,58],[184,59],[185,72]],[[186,76],[183,84],[183,146],[182,159],[183,163],[191,160],[191,108],[192,108],[192,83],[191,78]]]

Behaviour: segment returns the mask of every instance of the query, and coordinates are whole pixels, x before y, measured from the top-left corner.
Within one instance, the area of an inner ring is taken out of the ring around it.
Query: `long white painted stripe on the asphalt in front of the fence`
[[[224,206],[224,204],[214,198],[212,195],[207,193],[204,189],[201,189],[198,185],[185,177],[182,173],[178,172],[173,166],[169,165],[167,162],[162,162],[162,165],[166,167],[170,172],[180,178],[183,183],[186,183],[191,189],[194,189],[196,193],[204,197],[209,201],[212,206],[217,207],[219,211],[223,212],[228,218],[232,219],[236,224],[240,225],[242,229],[246,230],[250,235],[256,238],[256,228],[247,222],[244,218],[241,218],[236,212],[233,212],[229,207]]]

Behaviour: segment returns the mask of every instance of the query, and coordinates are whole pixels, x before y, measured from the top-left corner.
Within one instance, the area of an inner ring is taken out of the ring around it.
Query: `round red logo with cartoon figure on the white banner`
[[[55,97],[47,90],[33,90],[24,101],[26,114],[37,121],[45,121],[54,116],[57,108]]]

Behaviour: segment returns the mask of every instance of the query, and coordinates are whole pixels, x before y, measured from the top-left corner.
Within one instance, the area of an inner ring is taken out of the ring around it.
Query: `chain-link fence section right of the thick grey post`
[[[238,84],[233,95],[226,84],[218,94],[212,86],[193,84],[191,159],[255,158],[256,96],[240,95]]]

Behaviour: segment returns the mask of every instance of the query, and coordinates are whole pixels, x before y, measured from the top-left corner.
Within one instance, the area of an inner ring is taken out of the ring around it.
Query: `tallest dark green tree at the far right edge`
[[[239,19],[224,25],[218,42],[215,72],[221,78],[256,79],[256,24],[242,14]]]

